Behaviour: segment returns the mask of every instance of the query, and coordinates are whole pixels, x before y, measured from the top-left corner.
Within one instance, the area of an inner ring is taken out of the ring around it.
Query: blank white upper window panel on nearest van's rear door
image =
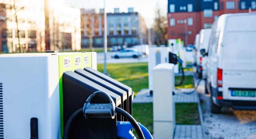
[[[256,31],[227,32],[224,43],[226,59],[256,60]]]

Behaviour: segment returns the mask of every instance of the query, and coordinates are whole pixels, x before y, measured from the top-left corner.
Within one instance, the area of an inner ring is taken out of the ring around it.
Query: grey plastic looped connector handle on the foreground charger
[[[91,103],[94,96],[103,94],[109,99],[109,103]],[[92,93],[83,105],[83,115],[88,118],[115,118],[115,103],[109,94],[103,91],[96,91]]]

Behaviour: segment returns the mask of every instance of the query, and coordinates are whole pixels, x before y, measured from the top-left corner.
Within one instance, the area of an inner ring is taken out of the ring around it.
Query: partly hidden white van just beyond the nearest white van
[[[209,44],[209,38],[211,35],[212,29],[202,29],[199,34],[200,34],[200,39],[199,39],[199,46],[197,49],[197,55],[196,55],[196,65],[197,65],[197,72],[198,72],[198,77],[206,79],[206,61],[207,57],[203,57],[202,54],[200,53],[202,49],[207,52],[208,49],[208,44]]]

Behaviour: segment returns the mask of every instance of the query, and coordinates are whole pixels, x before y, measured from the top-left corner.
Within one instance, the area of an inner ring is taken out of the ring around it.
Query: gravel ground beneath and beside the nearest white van
[[[256,111],[222,108],[221,114],[210,112],[210,95],[204,94],[204,81],[198,88],[202,105],[205,137],[209,139],[256,139]]]

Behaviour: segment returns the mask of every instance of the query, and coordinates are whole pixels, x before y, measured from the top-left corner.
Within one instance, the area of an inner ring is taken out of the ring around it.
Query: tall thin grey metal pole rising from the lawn
[[[107,12],[106,0],[104,0],[104,71],[103,74],[109,75],[107,72]]]

